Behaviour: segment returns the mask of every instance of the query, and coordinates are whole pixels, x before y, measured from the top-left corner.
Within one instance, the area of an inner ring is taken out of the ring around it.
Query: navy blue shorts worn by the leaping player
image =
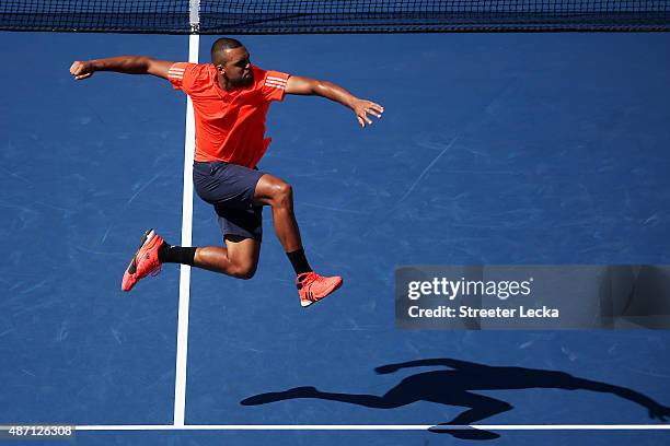
[[[263,238],[263,207],[254,204],[256,184],[263,175],[222,161],[193,163],[195,190],[213,206],[223,237]]]

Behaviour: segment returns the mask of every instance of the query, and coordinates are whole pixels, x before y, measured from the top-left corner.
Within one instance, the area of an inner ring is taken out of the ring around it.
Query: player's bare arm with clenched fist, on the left
[[[174,62],[155,60],[146,56],[119,56],[105,59],[77,60],[70,67],[70,74],[82,81],[96,71],[114,71],[126,74],[152,74],[168,79],[168,71]]]

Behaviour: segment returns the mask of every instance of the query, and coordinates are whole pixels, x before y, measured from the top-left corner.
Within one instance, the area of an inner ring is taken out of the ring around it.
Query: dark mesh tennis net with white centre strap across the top
[[[669,31],[670,0],[0,0],[0,30],[161,34]]]

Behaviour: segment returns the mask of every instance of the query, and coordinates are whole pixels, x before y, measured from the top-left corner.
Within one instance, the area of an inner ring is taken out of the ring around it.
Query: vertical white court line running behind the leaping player
[[[199,35],[188,37],[188,61],[198,63]],[[195,120],[190,97],[186,99],[186,138],[184,141],[184,197],[182,201],[182,246],[193,242],[193,157],[195,151]],[[188,302],[190,300],[190,267],[180,270],[180,306],[177,316],[177,351],[174,383],[174,425],[184,425],[186,408],[186,360],[188,357]]]

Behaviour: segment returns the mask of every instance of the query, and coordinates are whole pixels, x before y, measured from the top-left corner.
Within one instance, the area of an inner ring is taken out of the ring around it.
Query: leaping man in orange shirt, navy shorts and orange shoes
[[[215,42],[207,64],[122,56],[76,61],[70,67],[76,80],[95,71],[157,75],[190,96],[196,124],[194,185],[198,196],[212,204],[226,240],[224,248],[171,246],[148,230],[124,273],[124,291],[160,271],[165,262],[251,279],[261,253],[264,206],[273,209],[275,232],[297,274],[301,305],[309,306],[342,285],[342,278],[316,274],[310,267],[293,214],[291,186],[256,168],[270,143],[265,138],[265,117],[270,102],[282,101],[286,93],[338,102],[354,110],[361,127],[372,124],[368,115],[381,118],[382,106],[331,82],[262,70],[232,38]]]

